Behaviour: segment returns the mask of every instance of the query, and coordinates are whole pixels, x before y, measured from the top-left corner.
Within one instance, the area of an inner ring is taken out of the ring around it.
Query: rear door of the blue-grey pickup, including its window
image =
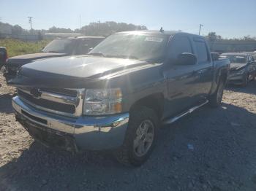
[[[201,37],[193,38],[195,55],[197,55],[196,71],[199,77],[196,92],[200,98],[206,98],[211,90],[212,80],[214,79],[214,65],[211,61],[211,53],[205,40]]]

